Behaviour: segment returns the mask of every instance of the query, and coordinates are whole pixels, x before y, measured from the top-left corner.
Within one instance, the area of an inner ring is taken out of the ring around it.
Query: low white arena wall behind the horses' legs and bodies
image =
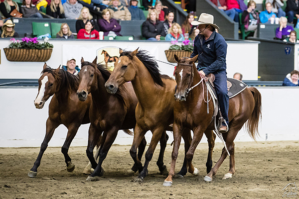
[[[299,140],[298,99],[299,88],[257,87],[262,94],[263,119],[259,125],[258,141]],[[0,88],[0,147],[39,147],[45,135],[45,122],[48,116],[48,100],[43,109],[36,109],[33,100],[38,89]],[[89,124],[82,125],[71,146],[87,146]],[[60,125],[49,146],[63,145],[67,129]],[[171,132],[168,144],[173,140]],[[148,143],[151,133],[146,134]],[[201,142],[206,142],[203,136]],[[220,140],[217,138],[217,142]],[[235,141],[253,141],[244,132],[238,133]],[[114,144],[131,145],[133,137],[119,131]]]

